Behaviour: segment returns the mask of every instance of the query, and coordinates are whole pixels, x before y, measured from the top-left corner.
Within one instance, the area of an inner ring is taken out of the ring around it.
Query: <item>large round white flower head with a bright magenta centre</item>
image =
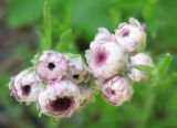
[[[124,67],[125,54],[118,44],[106,42],[86,52],[88,70],[95,77],[110,78]]]

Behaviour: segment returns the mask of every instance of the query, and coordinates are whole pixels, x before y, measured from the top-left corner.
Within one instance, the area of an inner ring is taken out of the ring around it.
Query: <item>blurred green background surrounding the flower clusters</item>
[[[134,85],[129,103],[113,107],[97,95],[72,118],[58,121],[39,118],[35,105],[19,104],[8,89],[10,76],[30,66],[40,51],[43,4],[44,0],[0,0],[0,128],[177,128],[177,0],[51,0],[52,39],[54,44],[65,41],[63,51],[84,53],[98,26],[114,32],[134,17],[146,23],[146,50],[155,63],[167,52],[174,56],[156,86]]]

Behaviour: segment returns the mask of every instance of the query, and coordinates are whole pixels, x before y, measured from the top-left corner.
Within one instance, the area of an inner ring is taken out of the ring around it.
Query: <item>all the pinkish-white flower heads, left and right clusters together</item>
[[[153,67],[150,56],[142,53],[146,45],[144,26],[131,18],[112,34],[100,28],[85,57],[44,51],[37,54],[33,66],[11,78],[11,95],[20,103],[37,104],[40,114],[54,118],[71,117],[102,90],[107,104],[119,106],[133,97],[133,82],[148,77],[140,67]],[[94,86],[91,86],[91,84]]]

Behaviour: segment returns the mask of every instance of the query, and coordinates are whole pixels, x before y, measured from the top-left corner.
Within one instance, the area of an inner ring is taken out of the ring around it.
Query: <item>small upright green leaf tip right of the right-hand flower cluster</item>
[[[159,75],[164,75],[166,74],[167,70],[168,70],[168,66],[170,64],[170,62],[173,61],[173,56],[167,53],[162,60],[160,62],[158,63],[157,65],[157,70],[158,70],[158,74]]]

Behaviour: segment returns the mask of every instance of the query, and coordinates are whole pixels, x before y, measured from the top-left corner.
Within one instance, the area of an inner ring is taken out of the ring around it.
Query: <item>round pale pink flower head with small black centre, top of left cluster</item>
[[[61,53],[54,51],[43,52],[37,63],[37,73],[42,79],[61,79],[66,74],[67,62]]]

